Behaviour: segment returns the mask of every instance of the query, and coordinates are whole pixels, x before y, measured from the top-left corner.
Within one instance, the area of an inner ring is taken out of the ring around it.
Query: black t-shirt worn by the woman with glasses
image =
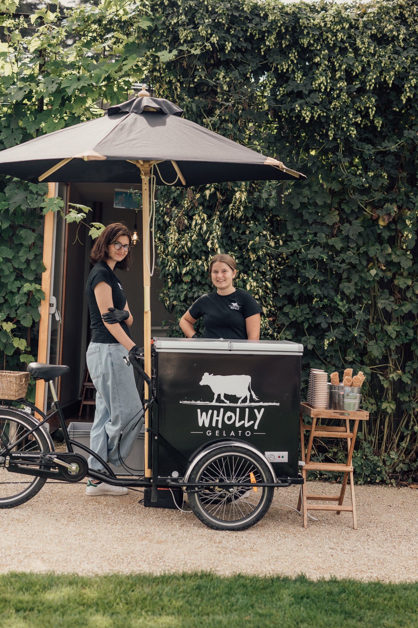
[[[126,296],[122,289],[121,282],[119,278],[112,271],[110,266],[105,262],[97,262],[93,266],[90,274],[88,275],[87,285],[85,286],[85,291],[87,293],[87,302],[88,302],[88,310],[90,310],[90,321],[91,321],[91,329],[92,329],[92,342],[106,342],[113,343],[117,342],[116,338],[112,336],[112,334],[106,329],[105,324],[102,320],[102,313],[100,313],[99,306],[97,305],[96,297],[94,295],[94,289],[100,281],[104,281],[109,284],[110,288],[112,288],[112,301],[113,306],[117,308],[117,310],[124,310],[126,305]],[[126,325],[125,321],[120,323],[124,332],[127,333],[129,338],[131,338],[131,334],[129,333],[129,327]]]

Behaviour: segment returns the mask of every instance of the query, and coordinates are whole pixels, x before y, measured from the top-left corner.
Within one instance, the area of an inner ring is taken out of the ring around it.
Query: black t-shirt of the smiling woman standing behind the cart
[[[254,296],[239,289],[230,295],[219,295],[217,291],[202,295],[189,308],[192,318],[203,317],[203,338],[230,340],[247,340],[245,318],[261,312]]]

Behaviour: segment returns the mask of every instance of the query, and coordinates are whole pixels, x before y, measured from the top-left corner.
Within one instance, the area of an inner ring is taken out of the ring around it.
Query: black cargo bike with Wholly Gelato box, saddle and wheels
[[[275,488],[303,482],[302,354],[302,345],[287,341],[154,338],[152,381],[141,360],[129,354],[128,367],[149,384],[151,477],[129,468],[132,475],[116,477],[87,445],[70,439],[53,386],[68,367],[29,364],[33,377],[49,382],[67,453],[55,452],[47,418],[33,404],[21,399],[24,410],[1,406],[0,507],[28,501],[47,479],[80,482],[88,474],[108,484],[144,487],[144,506],[181,509],[186,493],[191,510],[209,528],[250,528],[269,509]],[[75,447],[85,453],[74,453]],[[104,473],[88,469],[90,454]]]

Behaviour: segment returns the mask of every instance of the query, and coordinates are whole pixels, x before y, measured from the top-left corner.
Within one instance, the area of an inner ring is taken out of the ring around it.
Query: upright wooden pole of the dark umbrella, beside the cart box
[[[151,377],[151,276],[150,276],[150,244],[149,244],[149,177],[151,175],[151,166],[149,162],[144,161],[140,166],[142,179],[142,261],[144,265],[144,369],[146,374]],[[148,386],[145,386],[145,396],[148,398]],[[145,429],[149,427],[149,413],[145,413]],[[149,452],[149,432],[145,432],[144,443],[144,475],[151,477],[151,468],[148,466]]]

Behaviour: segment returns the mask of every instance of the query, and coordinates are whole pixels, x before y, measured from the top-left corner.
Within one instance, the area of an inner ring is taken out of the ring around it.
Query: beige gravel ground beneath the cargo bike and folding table
[[[338,487],[308,482],[314,494]],[[348,490],[349,493],[349,490]],[[244,532],[206,528],[193,514],[144,508],[139,492],[87,497],[85,484],[46,484],[31,501],[0,510],[0,573],[287,575],[418,580],[418,490],[357,486],[358,530],[350,512],[314,512],[303,529],[297,487],[276,490],[264,519]],[[350,497],[346,495],[346,502]],[[8,556],[8,560],[4,560]]]

